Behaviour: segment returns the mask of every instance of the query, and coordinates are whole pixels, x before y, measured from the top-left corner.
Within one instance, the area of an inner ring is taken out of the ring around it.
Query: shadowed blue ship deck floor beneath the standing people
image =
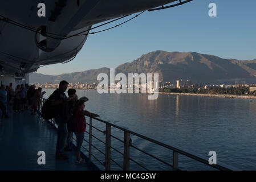
[[[75,152],[66,152],[68,160],[56,160],[56,129],[29,110],[9,112],[0,126],[0,170],[93,170],[89,164],[76,164]],[[38,151],[46,154],[46,164],[39,165]]]

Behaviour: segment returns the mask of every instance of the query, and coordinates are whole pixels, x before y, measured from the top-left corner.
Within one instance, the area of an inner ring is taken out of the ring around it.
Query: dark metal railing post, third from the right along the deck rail
[[[106,140],[105,140],[105,171],[110,171],[111,159],[111,126],[106,124]]]

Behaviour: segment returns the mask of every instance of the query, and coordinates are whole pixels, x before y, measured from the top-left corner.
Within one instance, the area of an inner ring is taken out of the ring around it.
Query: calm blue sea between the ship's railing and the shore
[[[54,91],[44,90],[47,92],[45,98]],[[96,90],[77,90],[77,94],[78,97],[88,97],[86,110],[99,114],[104,121],[204,158],[210,157],[209,151],[216,151],[217,163],[256,170],[256,100],[166,94],[159,94],[157,100],[148,100],[146,94],[99,94]],[[93,125],[105,130],[101,122],[94,120]],[[105,141],[105,135],[100,131],[94,129],[92,132]],[[111,134],[123,140],[122,131],[111,127]],[[88,134],[85,138],[88,140]],[[134,135],[131,138],[134,146],[172,164],[172,151]],[[101,151],[105,151],[103,143],[94,138],[92,142]],[[84,142],[84,146],[88,147],[88,144]],[[111,146],[123,153],[123,143],[119,140],[112,138]],[[94,148],[92,151],[104,162],[104,155]],[[171,169],[134,148],[131,148],[130,153],[132,159],[148,169]],[[123,166],[123,156],[115,150],[111,150],[111,158]],[[96,160],[93,162],[104,169]],[[180,154],[178,166],[188,170],[213,169]],[[111,169],[121,170],[113,162]],[[130,169],[143,168],[131,162]]]

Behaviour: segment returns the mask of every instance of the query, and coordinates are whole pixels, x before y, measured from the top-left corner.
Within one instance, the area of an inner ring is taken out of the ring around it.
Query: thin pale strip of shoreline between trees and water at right
[[[256,99],[256,96],[236,96],[229,94],[199,94],[199,93],[174,93],[174,92],[158,92],[160,94],[170,94],[170,95],[182,95],[182,96],[202,96],[202,97],[224,97],[224,98],[247,98]]]

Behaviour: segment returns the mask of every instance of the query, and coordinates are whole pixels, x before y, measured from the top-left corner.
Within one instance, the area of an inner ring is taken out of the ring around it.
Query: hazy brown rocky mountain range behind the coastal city
[[[159,73],[160,81],[174,82],[190,79],[201,84],[234,84],[235,81],[256,82],[256,59],[222,59],[213,55],[196,52],[154,51],[142,55],[131,63],[119,65],[115,73]],[[107,73],[109,68],[91,69],[84,72],[58,76],[31,73],[30,82],[92,82],[99,73]]]

